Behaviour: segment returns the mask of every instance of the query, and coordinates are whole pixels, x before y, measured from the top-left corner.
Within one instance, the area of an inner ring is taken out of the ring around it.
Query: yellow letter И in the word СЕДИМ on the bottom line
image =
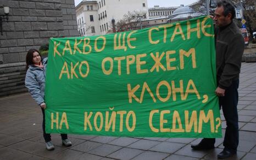
[[[185,129],[186,132],[191,132],[192,127],[194,126],[194,133],[197,133],[197,111],[192,111],[190,120],[188,117],[188,110],[185,110]]]

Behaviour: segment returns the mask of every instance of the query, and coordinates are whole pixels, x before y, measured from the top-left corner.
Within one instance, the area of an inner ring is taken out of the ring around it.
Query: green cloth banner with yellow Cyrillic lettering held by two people
[[[51,38],[46,132],[221,137],[213,21]]]

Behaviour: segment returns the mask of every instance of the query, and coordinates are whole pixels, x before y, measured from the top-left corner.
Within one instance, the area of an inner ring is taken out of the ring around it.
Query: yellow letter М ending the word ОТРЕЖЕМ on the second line
[[[187,52],[185,50],[180,50],[180,69],[184,69],[184,56],[189,57],[190,55],[192,55],[192,67],[197,68],[196,50],[194,48],[191,48]]]

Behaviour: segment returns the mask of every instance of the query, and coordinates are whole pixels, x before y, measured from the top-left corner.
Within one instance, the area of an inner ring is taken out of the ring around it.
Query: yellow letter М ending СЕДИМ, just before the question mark
[[[210,121],[210,132],[214,133],[213,110],[209,110],[207,116],[205,116],[204,110],[201,110],[199,114],[198,133],[202,133],[203,122],[207,123],[208,121]]]

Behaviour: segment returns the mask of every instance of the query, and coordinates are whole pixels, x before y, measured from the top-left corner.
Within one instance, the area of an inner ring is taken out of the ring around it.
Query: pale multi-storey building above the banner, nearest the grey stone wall
[[[148,10],[147,0],[84,0],[76,6],[80,35],[102,35],[116,22],[135,10]],[[149,17],[146,13],[146,19]]]

